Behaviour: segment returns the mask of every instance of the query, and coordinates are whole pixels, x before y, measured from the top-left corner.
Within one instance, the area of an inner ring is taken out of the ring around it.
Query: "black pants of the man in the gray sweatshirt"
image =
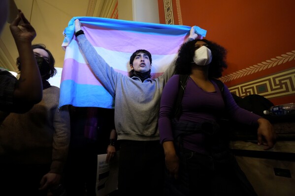
[[[159,140],[121,140],[118,190],[126,196],[162,196],[164,150]]]

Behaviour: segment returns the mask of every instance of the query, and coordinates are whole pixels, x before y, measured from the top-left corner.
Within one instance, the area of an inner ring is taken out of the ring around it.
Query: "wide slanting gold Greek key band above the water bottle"
[[[256,81],[232,86],[229,91],[239,97],[260,94],[265,98],[273,98],[295,94],[295,68]]]

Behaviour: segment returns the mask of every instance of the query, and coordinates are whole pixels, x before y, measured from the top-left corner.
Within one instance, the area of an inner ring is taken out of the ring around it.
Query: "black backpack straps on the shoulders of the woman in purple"
[[[180,117],[180,114],[182,112],[182,108],[181,108],[181,101],[182,101],[182,97],[183,97],[183,94],[184,94],[184,91],[185,91],[185,87],[187,85],[187,82],[189,80],[189,75],[179,75],[179,88],[178,88],[178,96],[177,96],[177,100],[176,100],[176,103],[174,105],[174,117],[176,117],[177,119],[179,119]],[[220,89],[221,91],[221,94],[222,94],[222,98],[223,98],[223,101],[224,103],[226,104],[226,97],[225,97],[225,94],[224,94],[224,84],[223,82],[221,82],[220,80],[218,79],[213,79],[213,81],[215,81],[215,83],[217,84],[218,88]]]

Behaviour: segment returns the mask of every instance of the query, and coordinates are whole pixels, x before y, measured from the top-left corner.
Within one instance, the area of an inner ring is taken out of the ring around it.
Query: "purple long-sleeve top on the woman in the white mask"
[[[182,113],[180,121],[200,123],[205,120],[217,120],[226,108],[229,117],[239,123],[246,125],[257,125],[261,116],[240,108],[232,98],[228,87],[225,85],[224,102],[221,91],[214,81],[215,91],[207,92],[202,90],[193,79],[189,78],[181,102]],[[173,107],[178,95],[179,75],[174,75],[165,85],[161,97],[159,131],[160,142],[173,141],[171,118],[173,118]],[[225,106],[226,103],[226,106]],[[202,133],[191,134],[183,137],[185,148],[205,152],[205,135]]]

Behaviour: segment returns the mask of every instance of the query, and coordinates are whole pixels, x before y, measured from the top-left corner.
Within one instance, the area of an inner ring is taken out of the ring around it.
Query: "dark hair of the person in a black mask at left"
[[[46,46],[44,44],[33,44],[32,45],[32,50],[39,48],[39,49],[43,49],[48,53],[48,64],[49,64],[49,72],[47,74],[45,74],[44,76],[42,76],[43,79],[48,80],[49,78],[53,77],[56,75],[57,70],[54,68],[54,64],[55,64],[55,59],[52,56],[51,52],[49,50],[46,49]],[[19,69],[19,71],[21,71],[21,62],[20,62],[20,57],[16,58],[16,64],[17,67]]]

